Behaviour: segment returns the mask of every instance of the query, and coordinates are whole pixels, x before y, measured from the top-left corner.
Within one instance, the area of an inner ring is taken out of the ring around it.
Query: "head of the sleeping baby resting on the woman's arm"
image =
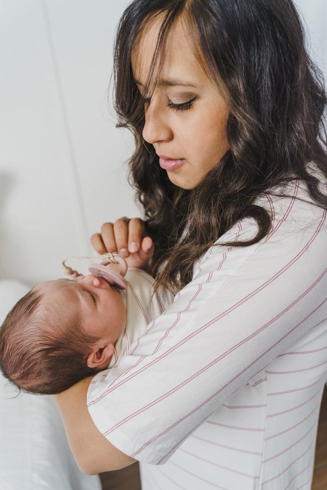
[[[62,392],[108,366],[125,323],[120,290],[102,278],[41,283],[0,327],[1,371],[24,392]]]

